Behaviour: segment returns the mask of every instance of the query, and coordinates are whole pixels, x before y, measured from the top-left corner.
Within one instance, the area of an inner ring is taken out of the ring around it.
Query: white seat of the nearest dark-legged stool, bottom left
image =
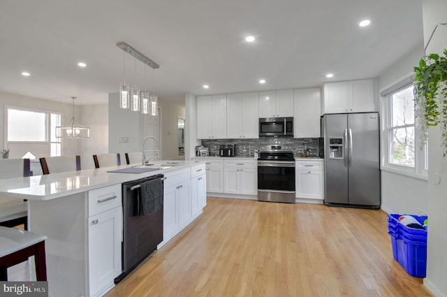
[[[0,226],[0,258],[47,239],[47,236]]]

